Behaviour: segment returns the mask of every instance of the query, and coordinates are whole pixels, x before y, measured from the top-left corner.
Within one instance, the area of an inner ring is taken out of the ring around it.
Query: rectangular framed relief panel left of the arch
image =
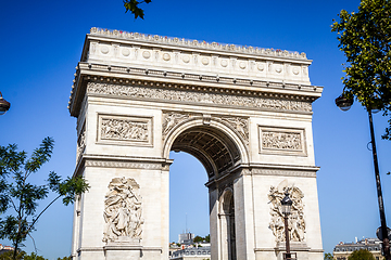
[[[135,116],[99,115],[99,142],[152,144],[152,118]]]

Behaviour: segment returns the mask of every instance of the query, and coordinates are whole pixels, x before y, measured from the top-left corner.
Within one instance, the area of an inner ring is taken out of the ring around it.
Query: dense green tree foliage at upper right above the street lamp
[[[342,10],[331,26],[346,56],[343,95],[367,110],[391,109],[391,1],[362,0],[358,12]],[[383,139],[391,140],[391,119]]]

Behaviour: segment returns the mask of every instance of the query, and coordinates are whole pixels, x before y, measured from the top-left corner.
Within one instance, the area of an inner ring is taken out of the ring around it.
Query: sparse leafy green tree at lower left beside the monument
[[[75,195],[88,191],[86,180],[79,178],[61,178],[53,171],[49,173],[47,183],[36,185],[29,182],[29,177],[36,173],[41,166],[49,161],[53,152],[54,141],[51,138],[43,139],[31,156],[27,153],[17,152],[16,144],[0,146],[0,213],[7,214],[0,219],[0,238],[12,240],[15,248],[13,258],[17,258],[17,251],[23,242],[35,230],[35,224],[40,216],[60,197],[63,204],[72,204]],[[55,192],[58,196],[48,206],[36,213],[38,202],[48,197],[49,192]]]

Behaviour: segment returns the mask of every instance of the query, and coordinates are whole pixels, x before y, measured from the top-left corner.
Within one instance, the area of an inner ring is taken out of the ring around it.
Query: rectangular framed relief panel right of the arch
[[[304,129],[258,127],[260,152],[306,155]]]

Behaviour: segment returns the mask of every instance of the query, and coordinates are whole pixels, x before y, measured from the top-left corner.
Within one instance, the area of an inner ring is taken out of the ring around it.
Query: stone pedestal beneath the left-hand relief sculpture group
[[[103,247],[106,260],[140,260],[142,246],[140,239],[119,236]]]

